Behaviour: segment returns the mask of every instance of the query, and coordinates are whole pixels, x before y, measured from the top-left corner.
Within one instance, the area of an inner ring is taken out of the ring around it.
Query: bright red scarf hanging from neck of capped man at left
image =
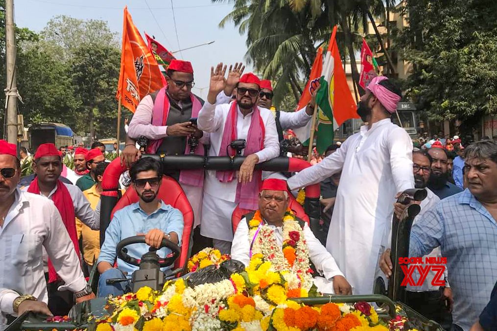
[[[31,182],[28,188],[29,193],[40,194],[38,179]],[[73,241],[76,255],[80,256],[80,247],[78,245],[78,234],[76,232],[76,216],[74,213],[73,198],[69,194],[69,190],[60,180],[57,181],[57,190],[50,197],[62,216],[62,222],[66,226],[69,237]],[[48,261],[48,282],[52,283],[57,280],[57,272],[55,271],[52,262]]]

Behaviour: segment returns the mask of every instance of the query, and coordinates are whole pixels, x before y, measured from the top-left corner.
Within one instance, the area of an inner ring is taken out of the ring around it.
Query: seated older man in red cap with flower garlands
[[[352,288],[335,260],[311,229],[288,208],[286,182],[266,179],[258,200],[259,209],[245,215],[233,238],[232,259],[245,265],[262,254],[275,271],[292,271],[302,280],[303,288],[312,282],[323,293],[352,294]],[[324,276],[312,278],[310,264]]]

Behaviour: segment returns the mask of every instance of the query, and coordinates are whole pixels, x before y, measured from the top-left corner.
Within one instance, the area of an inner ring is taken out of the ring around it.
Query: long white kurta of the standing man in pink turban
[[[387,223],[398,192],[414,188],[413,142],[390,119],[350,136],[322,162],[288,180],[290,189],[319,183],[341,170],[326,248],[354,294],[371,294]]]

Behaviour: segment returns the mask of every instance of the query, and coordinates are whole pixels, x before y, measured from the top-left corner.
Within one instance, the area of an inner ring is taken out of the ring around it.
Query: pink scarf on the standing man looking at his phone
[[[192,102],[191,117],[196,118],[198,112],[202,109],[202,104],[198,99],[190,93],[190,100]],[[167,116],[170,109],[169,98],[166,95],[166,87],[159,90],[156,100],[154,102],[154,109],[152,115],[152,125],[165,126],[167,123]],[[147,153],[155,154],[162,144],[163,139],[152,140],[147,146]],[[190,146],[186,143],[185,154],[190,154]],[[195,155],[204,156],[204,145],[199,142]],[[181,170],[179,173],[179,182],[186,185],[202,187],[204,185],[204,169],[195,170]]]

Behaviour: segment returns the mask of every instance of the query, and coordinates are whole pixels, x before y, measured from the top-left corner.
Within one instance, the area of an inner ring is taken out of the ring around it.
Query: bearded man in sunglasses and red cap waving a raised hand
[[[254,166],[279,155],[278,133],[274,116],[257,106],[260,80],[246,73],[238,82],[237,99],[230,104],[216,105],[218,94],[226,88],[226,66],[211,67],[207,102],[198,114],[200,130],[210,132],[210,156],[233,156],[235,141],[246,158],[240,171],[207,171],[202,202],[201,234],[213,239],[214,247],[229,253],[233,232],[231,214],[240,204],[243,209],[257,208],[261,171]],[[245,140],[245,142],[242,142]]]

